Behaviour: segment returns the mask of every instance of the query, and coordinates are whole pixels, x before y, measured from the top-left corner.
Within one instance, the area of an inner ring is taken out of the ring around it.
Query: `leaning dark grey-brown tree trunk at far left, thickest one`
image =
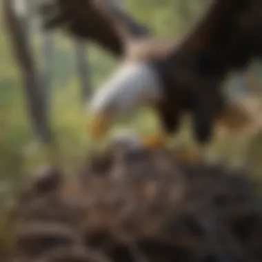
[[[17,59],[17,63],[21,68],[21,77],[28,98],[28,107],[34,132],[37,134],[38,139],[43,142],[49,142],[51,132],[48,127],[46,113],[43,108],[43,99],[41,97],[43,85],[39,81],[39,74],[32,57],[32,50],[28,43],[28,34],[26,32],[26,26],[28,26],[28,24],[25,22],[26,15],[24,13],[24,15],[21,14],[23,15],[23,19],[19,19],[14,11],[12,0],[4,0],[3,8],[14,57]],[[24,6],[23,8],[26,7]]]

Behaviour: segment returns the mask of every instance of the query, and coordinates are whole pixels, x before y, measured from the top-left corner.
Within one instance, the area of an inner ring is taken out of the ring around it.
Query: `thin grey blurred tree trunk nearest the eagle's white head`
[[[87,101],[92,94],[92,88],[90,83],[90,68],[85,57],[86,46],[82,41],[75,41],[74,46],[76,52],[77,74],[79,75],[81,85],[81,97],[83,97],[84,101]]]

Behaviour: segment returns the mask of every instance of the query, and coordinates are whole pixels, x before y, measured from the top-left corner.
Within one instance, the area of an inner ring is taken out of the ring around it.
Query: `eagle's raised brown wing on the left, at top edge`
[[[64,27],[72,36],[95,41],[119,56],[130,38],[148,34],[148,28],[108,0],[45,1],[41,14],[45,28]]]

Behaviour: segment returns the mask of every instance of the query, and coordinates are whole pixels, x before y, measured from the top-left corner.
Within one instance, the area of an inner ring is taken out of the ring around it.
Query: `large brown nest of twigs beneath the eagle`
[[[46,170],[10,215],[15,261],[262,261],[261,201],[241,172],[111,148],[58,177]]]

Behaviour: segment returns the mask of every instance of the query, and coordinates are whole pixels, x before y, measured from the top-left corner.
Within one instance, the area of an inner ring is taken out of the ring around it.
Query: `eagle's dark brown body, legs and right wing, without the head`
[[[257,0],[212,1],[179,46],[161,59],[151,59],[165,87],[160,115],[167,130],[177,127],[181,111],[190,110],[196,138],[210,138],[212,123],[223,108],[225,77],[261,55],[261,10]]]

